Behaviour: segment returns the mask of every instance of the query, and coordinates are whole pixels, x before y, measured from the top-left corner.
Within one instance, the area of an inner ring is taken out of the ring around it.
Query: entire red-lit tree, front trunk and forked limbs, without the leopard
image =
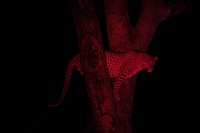
[[[186,4],[177,4],[175,7],[176,10],[165,0],[142,0],[140,17],[136,26],[132,27],[127,12],[127,0],[104,0],[110,49],[118,52],[146,52],[160,22],[183,11]],[[92,0],[72,0],[71,9],[96,132],[131,133],[136,76],[124,83],[119,92],[121,100],[115,101],[106,69],[99,21]]]

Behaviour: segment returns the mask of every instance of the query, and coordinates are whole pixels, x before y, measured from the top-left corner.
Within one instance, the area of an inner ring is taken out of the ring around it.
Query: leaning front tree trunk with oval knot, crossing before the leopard
[[[122,133],[105,63],[99,20],[91,0],[71,1],[79,39],[81,65],[97,133]]]

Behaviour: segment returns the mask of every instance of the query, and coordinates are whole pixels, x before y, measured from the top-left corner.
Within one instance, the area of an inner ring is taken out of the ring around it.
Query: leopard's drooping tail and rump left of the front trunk
[[[61,92],[61,95],[58,97],[57,100],[49,103],[50,107],[56,107],[56,106],[60,105],[60,103],[65,98],[65,95],[66,95],[68,88],[69,88],[72,70],[73,70],[74,67],[76,67],[77,70],[82,74],[81,65],[80,65],[80,56],[79,55],[74,56],[70,60],[68,66],[67,66],[67,69],[66,69],[66,77],[65,77],[65,82],[64,82],[64,86],[63,86],[63,90]]]

